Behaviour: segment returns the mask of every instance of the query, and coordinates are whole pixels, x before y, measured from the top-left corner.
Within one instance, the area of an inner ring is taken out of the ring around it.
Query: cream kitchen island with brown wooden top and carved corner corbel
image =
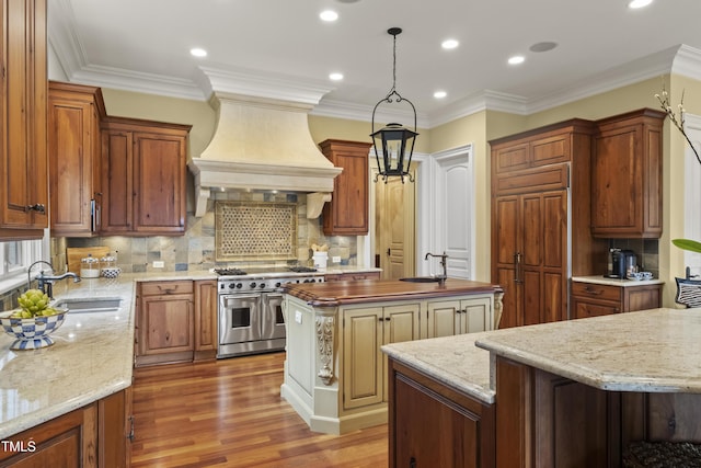
[[[387,422],[388,343],[493,330],[498,286],[448,278],[295,284],[280,393],[312,431],[343,434]]]

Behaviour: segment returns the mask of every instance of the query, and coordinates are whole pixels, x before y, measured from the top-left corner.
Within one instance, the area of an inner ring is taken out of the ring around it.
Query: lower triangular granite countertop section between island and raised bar
[[[490,332],[406,341],[382,346],[394,361],[484,403],[494,402],[490,353],[474,345]]]

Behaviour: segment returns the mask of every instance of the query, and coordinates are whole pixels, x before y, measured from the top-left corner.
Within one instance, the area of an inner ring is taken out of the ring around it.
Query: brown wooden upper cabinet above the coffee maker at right
[[[662,129],[650,109],[597,122],[591,153],[591,232],[604,238],[662,235]]]

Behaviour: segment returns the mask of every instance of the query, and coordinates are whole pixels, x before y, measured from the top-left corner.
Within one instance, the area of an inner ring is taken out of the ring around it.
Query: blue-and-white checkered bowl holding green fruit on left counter
[[[0,313],[2,329],[16,339],[10,350],[38,350],[54,344],[49,335],[64,323],[68,310],[31,319],[10,317],[13,312],[14,310],[10,310]]]

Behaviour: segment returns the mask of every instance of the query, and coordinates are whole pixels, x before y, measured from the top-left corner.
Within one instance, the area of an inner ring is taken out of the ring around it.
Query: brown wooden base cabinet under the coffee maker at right
[[[608,316],[662,307],[662,285],[612,286],[572,282],[571,318]]]

